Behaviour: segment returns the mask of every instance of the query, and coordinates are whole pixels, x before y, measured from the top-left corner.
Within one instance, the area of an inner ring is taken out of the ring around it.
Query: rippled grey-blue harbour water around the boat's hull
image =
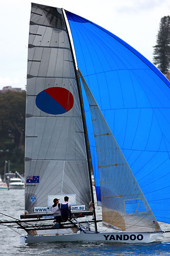
[[[4,214],[19,218],[24,212],[24,189],[11,189],[0,191],[1,212]],[[0,215],[0,220],[7,220],[7,217]],[[9,219],[8,219],[9,220]],[[169,224],[161,223],[163,230],[170,230]],[[21,235],[26,234],[23,230],[16,230]],[[170,255],[170,233],[164,233],[156,239],[156,242],[150,244],[122,244],[122,243],[89,243],[89,242],[56,242],[24,244],[19,243],[20,234],[8,227],[0,225],[0,255],[33,255],[33,256],[135,256],[152,255],[164,256]]]

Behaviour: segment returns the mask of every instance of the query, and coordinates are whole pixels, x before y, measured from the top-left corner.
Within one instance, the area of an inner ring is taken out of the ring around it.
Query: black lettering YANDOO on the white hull
[[[131,240],[131,241],[134,241],[134,240],[138,240],[138,241],[141,241],[143,240],[143,235],[142,234],[104,234],[103,235],[105,237],[105,240],[106,241],[110,241],[110,240],[115,240],[115,241],[118,241],[118,240],[121,240],[121,241],[127,241],[127,240]]]

